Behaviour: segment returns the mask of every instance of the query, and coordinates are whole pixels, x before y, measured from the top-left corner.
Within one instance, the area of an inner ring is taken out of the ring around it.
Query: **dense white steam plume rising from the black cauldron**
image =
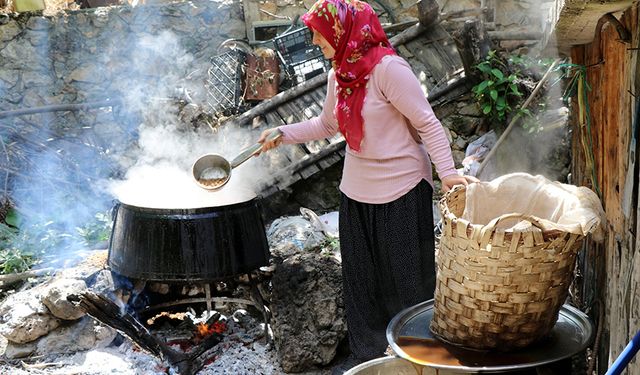
[[[221,206],[255,197],[254,185],[261,174],[266,174],[258,168],[261,163],[257,160],[233,171],[229,183],[219,191],[200,188],[193,179],[191,166],[206,153],[231,159],[254,143],[257,135],[229,127],[222,127],[215,134],[209,129],[185,130],[185,124],[178,118],[178,108],[163,100],[176,91],[190,93],[194,98],[206,97],[201,83],[194,85],[185,80],[193,69],[206,67],[193,67],[193,58],[168,31],[141,38],[135,51],[136,70],[147,74],[150,67],[172,67],[172,70],[155,72],[162,79],[152,87],[136,86],[133,82],[128,90],[128,106],[141,111],[145,120],[138,129],[139,140],[133,155],[122,159],[127,169],[124,179],[110,182],[109,191],[123,203],[152,208]]]

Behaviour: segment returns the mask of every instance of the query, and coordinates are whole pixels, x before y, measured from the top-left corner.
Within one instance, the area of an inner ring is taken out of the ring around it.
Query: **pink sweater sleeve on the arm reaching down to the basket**
[[[378,87],[417,130],[438,176],[443,178],[457,174],[449,140],[409,64],[401,58],[395,58],[389,59],[384,68],[384,74],[378,78]]]

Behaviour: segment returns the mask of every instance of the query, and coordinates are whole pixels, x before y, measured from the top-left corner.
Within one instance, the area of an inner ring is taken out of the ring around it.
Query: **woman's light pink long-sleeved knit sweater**
[[[285,144],[336,134],[336,81],[329,72],[327,97],[319,116],[284,125]],[[360,151],[346,146],[340,190],[363,203],[391,202],[426,179],[433,186],[431,161],[440,178],[456,174],[451,148],[440,121],[411,67],[399,56],[385,56],[373,69],[362,108]],[[419,136],[418,143],[409,127]]]

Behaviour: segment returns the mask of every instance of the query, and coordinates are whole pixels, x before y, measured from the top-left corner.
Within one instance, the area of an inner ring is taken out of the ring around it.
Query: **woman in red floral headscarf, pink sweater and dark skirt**
[[[319,0],[302,20],[332,60],[323,110],[279,127],[276,141],[266,141],[275,128],[258,141],[266,151],[337,131],[346,139],[339,229],[351,357],[334,372],[342,373],[382,356],[391,318],[433,298],[431,161],[444,191],[467,178],[458,175],[442,125],[371,6]]]

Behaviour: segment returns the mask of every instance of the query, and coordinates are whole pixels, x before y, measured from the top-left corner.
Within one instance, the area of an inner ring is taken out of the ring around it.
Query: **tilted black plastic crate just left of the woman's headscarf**
[[[294,83],[304,82],[331,68],[331,63],[322,56],[322,51],[311,42],[308,28],[293,30],[278,35],[273,44],[287,73]]]

